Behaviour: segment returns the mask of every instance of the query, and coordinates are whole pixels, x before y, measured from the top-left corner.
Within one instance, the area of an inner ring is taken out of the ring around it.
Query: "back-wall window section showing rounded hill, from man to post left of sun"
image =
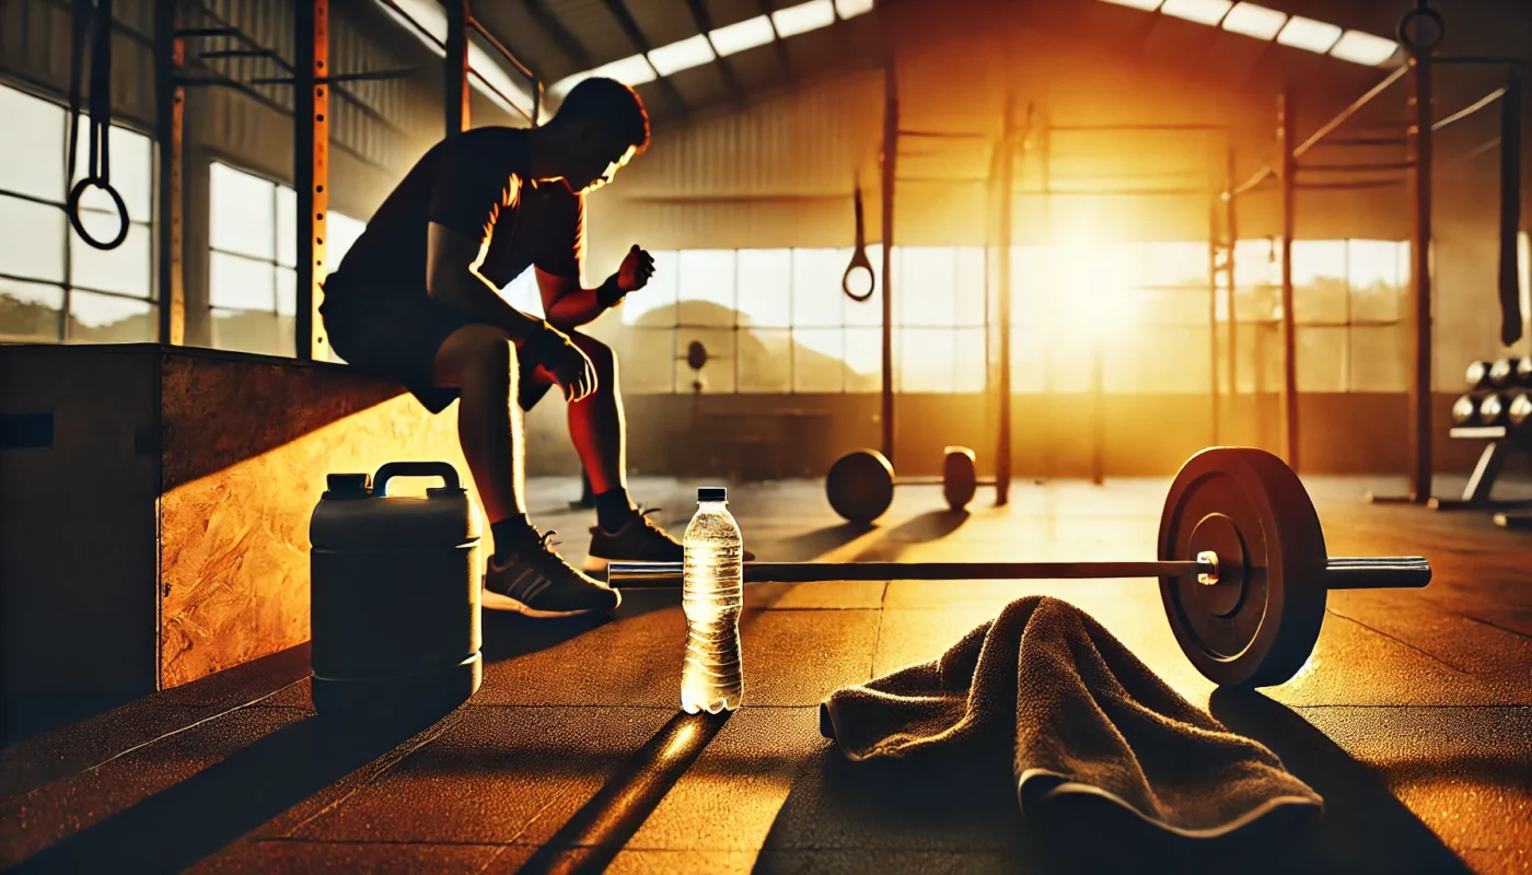
[[[878,291],[866,302],[846,297],[850,256],[849,248],[654,253],[654,280],[622,310],[625,388],[692,391],[699,374],[686,349],[697,342],[709,356],[700,372],[706,392],[876,392],[882,302]],[[876,273],[879,247],[867,256]],[[899,248],[895,259],[896,391],[982,391],[984,250]]]

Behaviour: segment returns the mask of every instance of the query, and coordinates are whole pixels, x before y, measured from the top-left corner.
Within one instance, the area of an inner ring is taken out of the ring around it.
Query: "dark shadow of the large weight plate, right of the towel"
[[[1209,711],[1249,736],[1325,798],[1307,852],[1308,872],[1469,872],[1383,778],[1351,759],[1308,720],[1259,693],[1215,690]]]

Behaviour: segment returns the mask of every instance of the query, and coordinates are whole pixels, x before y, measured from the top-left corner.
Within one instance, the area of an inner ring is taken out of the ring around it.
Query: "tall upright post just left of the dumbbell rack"
[[[1409,501],[1431,500],[1431,58],[1429,49],[1409,57],[1409,236],[1414,299],[1409,382]]]

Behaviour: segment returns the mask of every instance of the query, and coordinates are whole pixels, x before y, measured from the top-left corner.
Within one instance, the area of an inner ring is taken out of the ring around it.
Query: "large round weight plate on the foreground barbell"
[[[1242,561],[1224,555],[1233,552],[1230,538]],[[1160,518],[1160,558],[1195,559],[1207,549],[1219,552],[1218,585],[1196,575],[1160,578],[1181,650],[1223,687],[1288,680],[1313,653],[1325,613],[1325,541],[1298,475],[1249,447],[1187,460]]]

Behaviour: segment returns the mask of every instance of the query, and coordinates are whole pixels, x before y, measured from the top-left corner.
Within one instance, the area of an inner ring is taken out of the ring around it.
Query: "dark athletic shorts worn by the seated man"
[[[348,365],[401,383],[432,414],[457,400],[455,388],[435,386],[437,351],[464,325],[481,322],[472,313],[432,299],[424,293],[336,288],[326,283],[319,313],[329,345]],[[530,411],[548,392],[548,383],[532,379],[538,363],[518,351],[516,403]]]

